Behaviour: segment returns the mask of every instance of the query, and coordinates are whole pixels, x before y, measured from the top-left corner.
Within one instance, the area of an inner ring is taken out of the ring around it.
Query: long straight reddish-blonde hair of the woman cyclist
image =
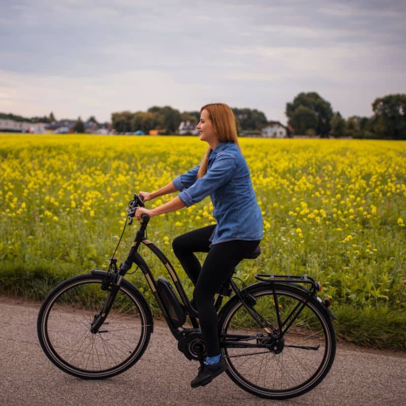
[[[237,128],[235,125],[235,117],[232,110],[224,103],[211,103],[203,106],[200,109],[200,114],[203,110],[209,113],[210,121],[213,123],[214,130],[220,142],[232,142],[239,147]],[[211,148],[206,151],[203,159],[201,160],[197,178],[202,178],[207,172],[207,157]]]

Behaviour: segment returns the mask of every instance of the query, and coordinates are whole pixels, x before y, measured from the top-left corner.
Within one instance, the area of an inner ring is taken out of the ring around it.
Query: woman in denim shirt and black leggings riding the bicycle
[[[207,357],[191,386],[206,385],[225,369],[220,355],[217,312],[213,298],[221,285],[232,276],[235,266],[249,256],[262,238],[262,215],[252,188],[250,171],[241,153],[232,110],[213,103],[200,109],[196,127],[201,141],[209,148],[200,164],[171,183],[152,192],[140,192],[144,201],[180,191],[164,205],[148,210],[137,208],[136,216],[154,217],[189,207],[211,197],[215,225],[178,236],[174,253],[193,282],[193,304],[198,311]],[[201,266],[195,252],[207,252]]]

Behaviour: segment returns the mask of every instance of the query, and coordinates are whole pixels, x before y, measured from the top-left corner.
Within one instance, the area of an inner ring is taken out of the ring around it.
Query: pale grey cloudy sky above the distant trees
[[[212,101],[286,123],[299,92],[344,117],[405,93],[404,0],[0,0],[0,112],[110,121]]]

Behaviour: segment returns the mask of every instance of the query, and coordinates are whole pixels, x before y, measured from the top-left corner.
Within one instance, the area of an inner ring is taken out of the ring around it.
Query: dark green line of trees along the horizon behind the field
[[[286,104],[289,136],[319,136],[322,138],[368,138],[406,140],[406,94],[389,94],[378,97],[371,105],[370,117],[351,116],[344,119],[340,112],[334,112],[329,101],[316,92],[299,93],[292,102]],[[265,114],[256,109],[232,108],[239,133],[259,134],[268,120]],[[44,117],[24,118],[11,113],[0,113],[2,119],[52,123],[54,114]],[[195,126],[200,118],[199,111],[180,112],[171,106],[153,106],[146,112],[122,111],[112,113],[112,126],[116,132],[158,130],[160,134],[176,134],[180,123],[189,121]],[[97,123],[94,116],[87,121]],[[97,123],[99,124],[99,123]],[[105,123],[104,125],[108,125]],[[100,125],[100,124],[99,124]],[[74,130],[83,132],[84,123],[79,117]]]

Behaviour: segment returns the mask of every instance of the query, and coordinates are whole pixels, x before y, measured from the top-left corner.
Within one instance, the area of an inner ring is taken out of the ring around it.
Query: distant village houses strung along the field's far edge
[[[28,121],[15,121],[12,119],[0,118],[0,132],[25,132],[31,134],[71,134],[75,133],[76,120],[60,120],[51,123],[31,123]],[[124,135],[145,135],[144,131],[117,132],[111,124],[99,124],[94,121],[85,121],[84,133],[87,134],[124,134]],[[178,132],[181,136],[197,135],[196,123],[182,121]],[[147,135],[158,135],[160,130],[152,129]],[[244,130],[240,132],[242,137],[260,138],[287,138],[291,134],[291,129],[279,121],[269,121],[262,128],[255,131]]]

